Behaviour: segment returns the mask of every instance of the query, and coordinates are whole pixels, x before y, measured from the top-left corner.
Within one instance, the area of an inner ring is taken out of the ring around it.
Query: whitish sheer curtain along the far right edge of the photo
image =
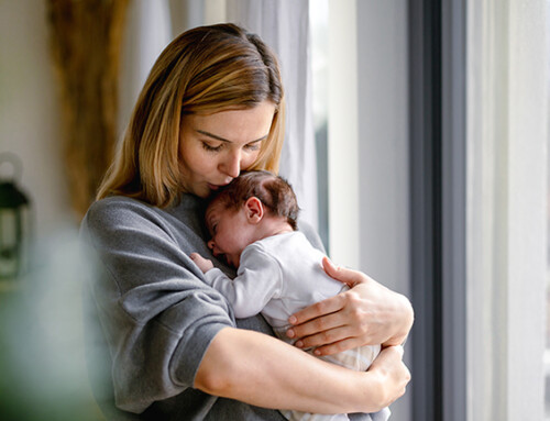
[[[468,420],[543,419],[548,1],[468,2]]]

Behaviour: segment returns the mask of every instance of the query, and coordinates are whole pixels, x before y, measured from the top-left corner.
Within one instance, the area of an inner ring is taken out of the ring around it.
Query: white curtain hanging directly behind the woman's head
[[[278,55],[287,101],[280,175],[296,191],[300,219],[317,228],[309,1],[227,0],[227,20],[258,34]]]

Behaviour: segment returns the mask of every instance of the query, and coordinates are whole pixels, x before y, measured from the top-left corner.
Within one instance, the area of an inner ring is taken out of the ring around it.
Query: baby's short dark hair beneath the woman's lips
[[[210,198],[221,201],[227,209],[239,210],[251,197],[255,197],[276,217],[286,218],[297,230],[298,200],[292,186],[284,178],[266,170],[243,171],[229,185],[221,187]]]

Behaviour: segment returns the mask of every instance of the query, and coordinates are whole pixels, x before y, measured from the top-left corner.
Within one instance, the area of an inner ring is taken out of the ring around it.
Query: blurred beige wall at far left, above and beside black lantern
[[[0,0],[0,152],[13,152],[23,162],[20,184],[33,201],[38,236],[74,223],[67,214],[45,3]],[[1,170],[6,175],[7,166]]]

